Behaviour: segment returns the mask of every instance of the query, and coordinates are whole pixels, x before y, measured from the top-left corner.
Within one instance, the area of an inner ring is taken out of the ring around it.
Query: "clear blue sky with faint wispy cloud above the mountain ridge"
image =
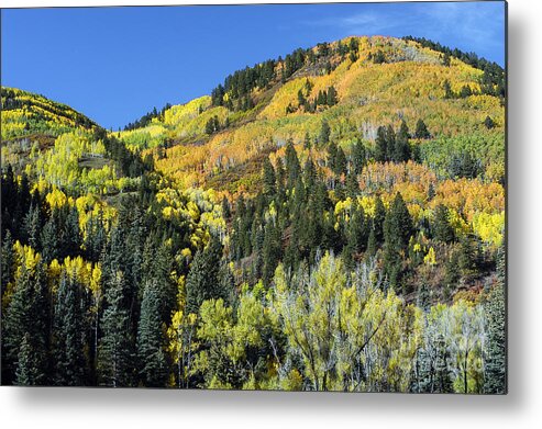
[[[500,1],[2,10],[2,86],[117,129],[224,77],[349,35],[414,35],[505,63]]]

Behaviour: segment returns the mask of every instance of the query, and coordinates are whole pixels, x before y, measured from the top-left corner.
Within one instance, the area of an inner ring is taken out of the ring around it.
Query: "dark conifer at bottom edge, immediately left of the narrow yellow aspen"
[[[147,387],[164,387],[168,376],[158,289],[155,280],[146,282],[137,325],[140,380]]]

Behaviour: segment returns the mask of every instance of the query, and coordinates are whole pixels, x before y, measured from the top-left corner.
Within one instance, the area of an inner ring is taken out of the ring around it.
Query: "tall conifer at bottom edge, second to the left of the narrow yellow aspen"
[[[98,347],[98,382],[102,386],[125,387],[133,383],[133,339],[125,307],[126,284],[121,271],[113,273],[106,291],[103,331]]]

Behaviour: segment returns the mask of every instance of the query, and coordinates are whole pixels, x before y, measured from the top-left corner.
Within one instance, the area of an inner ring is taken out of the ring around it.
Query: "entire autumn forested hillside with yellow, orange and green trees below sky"
[[[347,37],[119,132],[2,88],[2,384],[505,393],[505,79]]]

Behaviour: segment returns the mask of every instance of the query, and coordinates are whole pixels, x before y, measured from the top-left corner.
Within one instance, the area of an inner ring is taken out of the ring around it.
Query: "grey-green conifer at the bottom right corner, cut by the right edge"
[[[485,304],[487,317],[487,348],[485,355],[484,392],[505,394],[507,392],[506,358],[506,247],[497,255],[497,284]]]

